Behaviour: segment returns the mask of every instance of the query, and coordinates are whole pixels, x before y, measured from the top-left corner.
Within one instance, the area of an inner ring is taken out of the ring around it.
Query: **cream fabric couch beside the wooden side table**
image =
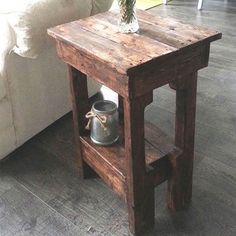
[[[0,159],[71,109],[67,69],[46,29],[106,11],[112,1],[0,2]],[[90,95],[98,89],[90,81]]]

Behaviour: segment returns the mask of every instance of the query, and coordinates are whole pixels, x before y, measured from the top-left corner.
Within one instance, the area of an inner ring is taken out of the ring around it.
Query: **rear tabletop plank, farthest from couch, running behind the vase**
[[[155,41],[174,48],[183,48],[205,39],[213,41],[221,37],[221,33],[202,26],[182,23],[170,17],[160,17],[141,10],[138,10],[137,13],[140,25],[139,35],[146,37],[152,35],[152,39]],[[109,21],[118,29],[119,12],[110,11],[94,17],[96,20]]]

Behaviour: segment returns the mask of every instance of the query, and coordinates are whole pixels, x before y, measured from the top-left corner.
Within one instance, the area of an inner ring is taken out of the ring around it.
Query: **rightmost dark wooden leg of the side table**
[[[176,83],[175,145],[183,154],[170,160],[167,202],[172,210],[188,207],[192,197],[197,72],[183,81],[186,81],[185,86]]]

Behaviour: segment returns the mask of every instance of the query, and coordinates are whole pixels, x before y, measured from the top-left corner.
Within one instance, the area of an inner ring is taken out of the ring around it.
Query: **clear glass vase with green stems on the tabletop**
[[[139,29],[135,4],[136,0],[118,0],[120,8],[119,32],[135,33]]]

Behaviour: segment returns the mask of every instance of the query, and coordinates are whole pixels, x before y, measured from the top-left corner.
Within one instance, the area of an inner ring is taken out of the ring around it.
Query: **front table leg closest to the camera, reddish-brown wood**
[[[154,224],[154,186],[146,181],[144,109],[152,94],[124,99],[124,130],[127,168],[127,205],[130,232],[143,235]]]

